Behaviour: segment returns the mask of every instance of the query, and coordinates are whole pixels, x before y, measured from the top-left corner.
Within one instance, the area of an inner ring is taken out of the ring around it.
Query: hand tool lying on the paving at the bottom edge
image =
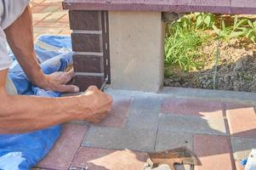
[[[175,164],[201,165],[196,154],[186,147],[179,147],[173,150],[148,153],[147,167],[151,169],[166,164],[170,169],[175,170]]]

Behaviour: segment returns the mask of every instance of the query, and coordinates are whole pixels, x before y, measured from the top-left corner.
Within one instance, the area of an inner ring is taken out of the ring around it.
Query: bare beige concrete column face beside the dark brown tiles
[[[163,84],[161,12],[109,12],[111,88],[157,92]]]

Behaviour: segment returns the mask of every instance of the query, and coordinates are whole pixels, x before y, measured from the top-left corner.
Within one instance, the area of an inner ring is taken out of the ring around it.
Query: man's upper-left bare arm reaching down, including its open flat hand
[[[69,73],[58,72],[53,75],[43,74],[34,51],[32,17],[29,6],[4,32],[16,59],[33,84],[40,88],[59,92],[79,91],[77,86],[65,85],[74,76],[72,71]]]

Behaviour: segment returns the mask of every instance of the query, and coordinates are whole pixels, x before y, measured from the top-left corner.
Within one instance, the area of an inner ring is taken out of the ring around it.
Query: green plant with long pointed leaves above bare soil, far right
[[[219,35],[219,38],[223,38],[229,41],[231,38],[244,37],[246,34],[246,31],[242,26],[247,23],[247,19],[238,20],[236,16],[233,26],[225,26],[224,20],[221,20],[220,23],[220,28],[213,25],[213,30]]]

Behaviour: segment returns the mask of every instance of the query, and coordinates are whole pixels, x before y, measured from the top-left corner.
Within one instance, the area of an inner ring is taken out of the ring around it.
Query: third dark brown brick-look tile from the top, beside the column
[[[75,72],[104,72],[103,57],[90,55],[73,55]]]

